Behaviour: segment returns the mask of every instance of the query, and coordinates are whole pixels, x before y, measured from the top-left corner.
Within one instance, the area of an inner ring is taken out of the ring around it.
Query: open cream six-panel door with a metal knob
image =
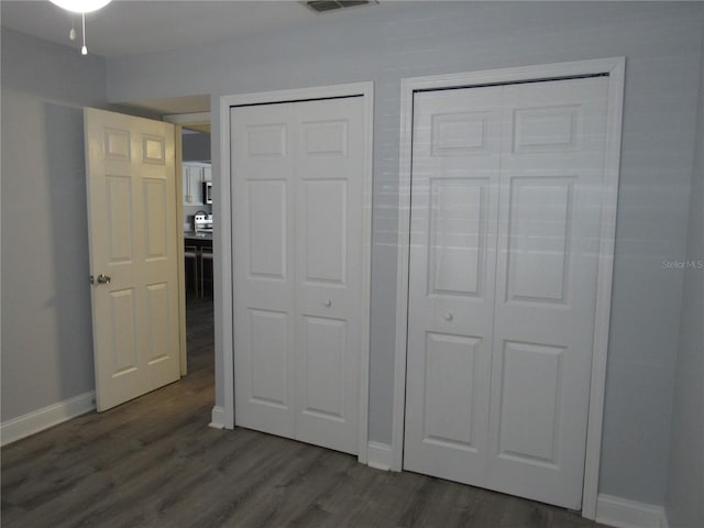
[[[174,127],[84,111],[96,403],[180,375]]]

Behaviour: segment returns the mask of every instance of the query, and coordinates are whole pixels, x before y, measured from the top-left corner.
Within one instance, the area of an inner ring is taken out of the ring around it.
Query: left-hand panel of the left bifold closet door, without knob
[[[292,105],[231,110],[235,424],[295,437]]]

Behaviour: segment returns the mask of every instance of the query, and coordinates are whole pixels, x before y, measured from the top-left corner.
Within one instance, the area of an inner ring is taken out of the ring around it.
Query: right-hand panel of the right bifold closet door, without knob
[[[487,485],[580,509],[607,79],[504,88]]]

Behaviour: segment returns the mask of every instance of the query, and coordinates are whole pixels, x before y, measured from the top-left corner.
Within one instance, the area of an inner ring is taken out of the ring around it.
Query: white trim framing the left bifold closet
[[[272,102],[292,102],[307,99],[330,99],[337,97],[362,96],[364,98],[365,165],[363,184],[363,255],[362,270],[363,299],[365,312],[362,317],[362,350],[360,358],[360,417],[359,417],[359,461],[367,459],[367,422],[369,422],[369,371],[370,371],[370,288],[372,264],[372,144],[373,144],[373,109],[374,84],[354,82],[346,85],[299,88],[292,90],[263,91],[220,97],[220,189],[216,189],[221,204],[219,229],[221,235],[219,260],[222,286],[222,383],[224,389],[223,407],[213,408],[213,416],[220,418],[218,425],[228,429],[234,428],[234,349],[233,349],[233,284],[232,255],[235,248],[232,243],[232,185],[230,182],[230,107],[243,105],[262,105]]]

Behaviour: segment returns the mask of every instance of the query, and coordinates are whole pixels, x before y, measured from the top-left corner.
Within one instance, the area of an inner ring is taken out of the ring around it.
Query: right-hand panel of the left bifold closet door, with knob
[[[363,99],[301,102],[297,111],[296,438],[356,453]]]

